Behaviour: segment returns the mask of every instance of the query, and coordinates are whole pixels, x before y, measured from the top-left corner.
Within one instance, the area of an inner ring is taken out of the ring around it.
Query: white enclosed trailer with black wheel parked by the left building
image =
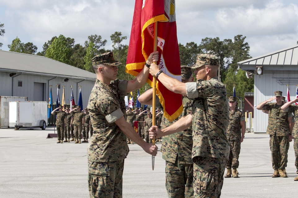
[[[45,130],[47,109],[47,102],[43,101],[10,101],[9,127],[15,127],[16,130],[22,127],[39,127]]]

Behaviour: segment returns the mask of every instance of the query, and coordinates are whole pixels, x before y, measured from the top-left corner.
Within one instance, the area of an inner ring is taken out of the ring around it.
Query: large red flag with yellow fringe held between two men
[[[153,52],[153,23],[158,22],[157,64],[165,74],[181,81],[180,57],[177,41],[175,0],[136,0],[131,27],[126,72],[136,76]],[[148,84],[153,87],[153,77]],[[157,79],[156,94],[164,109],[164,116],[172,121],[182,112],[182,95],[167,90]]]

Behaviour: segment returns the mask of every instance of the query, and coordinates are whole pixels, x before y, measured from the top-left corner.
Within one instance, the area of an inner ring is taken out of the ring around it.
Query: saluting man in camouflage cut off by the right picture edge
[[[292,133],[290,132],[290,136],[294,139],[294,151],[295,151],[295,166],[296,166],[296,173],[298,174],[298,105],[292,103],[297,103],[298,98],[291,100],[284,105],[282,105],[281,109],[285,112],[292,112],[295,118],[295,124],[292,127]],[[298,176],[294,178],[294,181],[298,181]]]

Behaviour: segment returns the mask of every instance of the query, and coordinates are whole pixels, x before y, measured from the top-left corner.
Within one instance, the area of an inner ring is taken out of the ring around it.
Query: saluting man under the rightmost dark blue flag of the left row
[[[74,111],[77,110],[77,111]],[[72,109],[70,112],[73,112],[71,124],[73,124],[73,129],[76,137],[75,144],[81,144],[82,139],[82,127],[85,123],[85,114],[81,112],[81,106],[78,105],[77,108]]]

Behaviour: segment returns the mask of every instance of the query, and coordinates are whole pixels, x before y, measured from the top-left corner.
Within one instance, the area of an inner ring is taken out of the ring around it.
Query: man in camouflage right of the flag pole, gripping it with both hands
[[[192,115],[182,117],[171,126],[158,130],[152,126],[150,137],[176,133],[192,124],[193,127],[193,191],[194,197],[220,197],[225,165],[230,145],[226,136],[228,127],[228,99],[225,86],[216,76],[219,57],[198,54],[195,68],[197,82],[182,83],[166,74],[158,76],[170,91],[193,99]],[[151,64],[150,74],[156,76],[158,65]],[[179,128],[179,126],[181,126]],[[177,129],[178,128],[178,129]],[[161,133],[162,132],[162,133]]]

